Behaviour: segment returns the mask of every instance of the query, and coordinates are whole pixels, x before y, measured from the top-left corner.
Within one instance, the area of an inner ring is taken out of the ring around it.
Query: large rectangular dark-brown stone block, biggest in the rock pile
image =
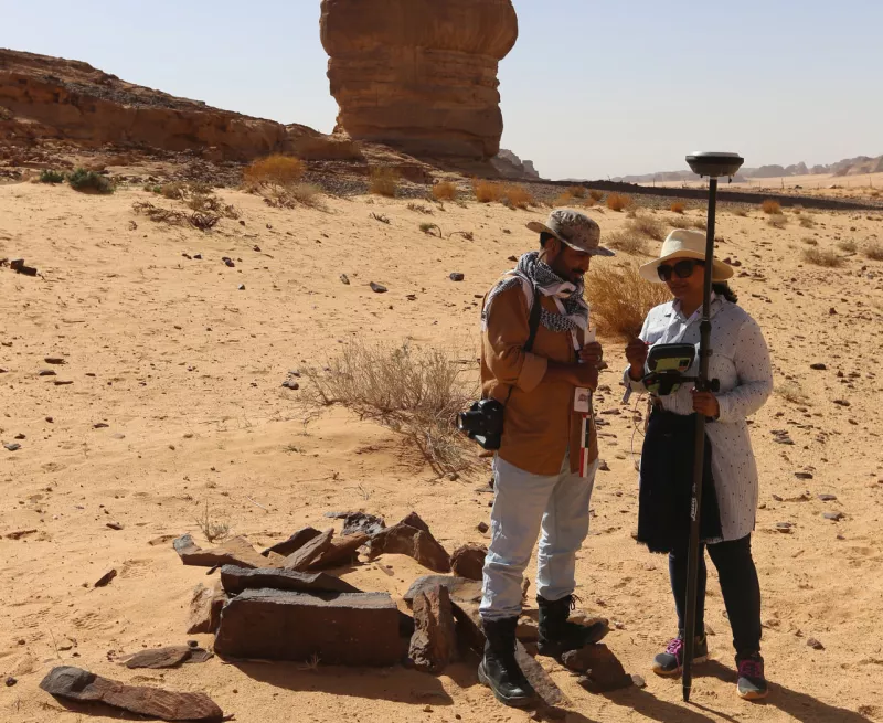
[[[224,608],[214,647],[228,658],[393,666],[402,657],[398,609],[386,593],[246,589]]]

